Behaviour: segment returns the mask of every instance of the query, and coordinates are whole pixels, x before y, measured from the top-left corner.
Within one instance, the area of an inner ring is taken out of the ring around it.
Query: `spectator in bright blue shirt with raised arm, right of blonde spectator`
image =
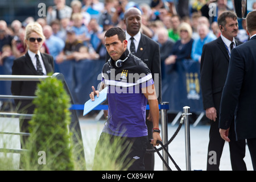
[[[213,40],[217,39],[212,32],[210,32],[209,27],[207,24],[200,24],[197,27],[197,32],[199,34],[199,37],[196,38],[192,45],[192,51],[191,51],[191,57],[195,61],[201,62],[201,55],[202,55],[202,49],[204,44],[212,42]]]

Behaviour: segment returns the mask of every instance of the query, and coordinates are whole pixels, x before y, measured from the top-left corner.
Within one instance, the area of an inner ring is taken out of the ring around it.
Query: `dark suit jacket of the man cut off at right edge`
[[[237,139],[256,138],[256,36],[231,52],[221,98],[220,128],[235,116]]]

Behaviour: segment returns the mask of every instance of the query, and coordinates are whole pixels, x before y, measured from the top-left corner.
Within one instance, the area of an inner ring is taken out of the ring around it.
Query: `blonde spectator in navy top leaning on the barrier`
[[[175,64],[176,61],[183,59],[191,59],[192,50],[192,28],[188,23],[181,23],[178,27],[180,39],[172,47],[172,51],[167,59],[164,61],[166,65]]]

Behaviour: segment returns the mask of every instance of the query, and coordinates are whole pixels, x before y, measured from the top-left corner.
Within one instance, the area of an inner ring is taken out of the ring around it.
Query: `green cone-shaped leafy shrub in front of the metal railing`
[[[36,109],[29,122],[31,135],[26,143],[24,167],[26,170],[73,170],[73,145],[68,131],[71,105],[63,83],[48,77],[38,84],[35,94],[38,97],[33,101]]]

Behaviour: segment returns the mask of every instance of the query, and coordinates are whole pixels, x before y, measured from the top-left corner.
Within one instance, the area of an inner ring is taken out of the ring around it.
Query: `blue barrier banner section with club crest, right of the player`
[[[168,65],[165,74],[162,80],[162,101],[170,102],[170,111],[183,111],[184,106],[189,106],[191,112],[204,111],[200,88],[200,63],[183,60]]]

